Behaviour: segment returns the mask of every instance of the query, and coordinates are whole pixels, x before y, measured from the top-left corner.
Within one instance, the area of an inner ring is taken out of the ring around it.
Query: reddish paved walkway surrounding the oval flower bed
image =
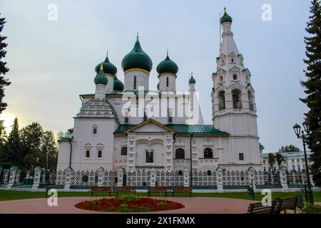
[[[46,198],[19,199],[0,202],[0,214],[91,214],[106,213],[93,212],[74,207],[78,202],[101,197],[61,197],[58,198],[57,207],[49,207]],[[158,197],[155,197],[158,198]],[[244,214],[247,212],[250,200],[228,199],[213,197],[166,197],[168,200],[180,202],[185,205],[182,209],[163,212],[151,212],[156,214]]]

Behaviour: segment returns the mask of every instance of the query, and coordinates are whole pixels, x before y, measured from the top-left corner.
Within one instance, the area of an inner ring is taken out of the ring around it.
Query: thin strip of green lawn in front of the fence
[[[116,196],[115,193],[112,194]],[[122,194],[126,195],[126,194]],[[136,195],[139,196],[147,196],[146,192],[137,192]],[[287,198],[292,197],[293,195],[302,195],[303,199],[305,200],[305,196],[303,192],[272,192],[272,199],[277,197],[280,198]],[[58,192],[58,197],[90,197],[91,192]],[[94,196],[101,196],[106,197],[108,196],[106,193],[95,193]],[[153,194],[152,196],[160,197],[164,196],[161,194]],[[168,193],[168,196],[172,196]],[[188,194],[185,193],[178,193],[175,194],[175,197],[188,197]],[[253,198],[248,195],[247,192],[225,192],[225,193],[215,193],[215,192],[193,192],[193,197],[223,197],[223,198],[233,198],[233,199],[250,199]],[[44,198],[46,197],[46,192],[21,192],[21,191],[7,191],[7,190],[0,190],[0,201],[4,200],[14,200],[14,199],[34,199],[34,198]],[[255,193],[255,200],[260,200],[264,197],[260,193]],[[315,202],[321,202],[321,192],[314,192],[313,197]]]

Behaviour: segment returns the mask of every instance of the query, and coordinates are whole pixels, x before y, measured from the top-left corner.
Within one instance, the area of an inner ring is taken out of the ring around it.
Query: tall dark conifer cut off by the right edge
[[[300,100],[309,108],[309,111],[305,113],[305,119],[310,122],[311,129],[307,137],[307,145],[312,151],[311,173],[315,185],[321,186],[321,8],[318,0],[312,0],[310,13],[310,21],[307,22],[307,28],[305,28],[309,33],[309,36],[305,37],[307,58],[304,60],[307,64],[305,71],[307,81],[301,81],[307,97]]]

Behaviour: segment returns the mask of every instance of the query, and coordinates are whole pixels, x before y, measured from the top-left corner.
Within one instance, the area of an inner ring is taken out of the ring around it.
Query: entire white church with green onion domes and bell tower
[[[96,92],[80,95],[73,128],[58,140],[57,170],[263,170],[251,74],[226,11],[220,24],[223,39],[208,91],[213,125],[203,124],[197,77],[191,75],[187,93],[176,91],[178,66],[168,54],[156,68],[158,90],[149,90],[153,63],[137,36],[121,63],[124,83],[108,56],[96,66]]]

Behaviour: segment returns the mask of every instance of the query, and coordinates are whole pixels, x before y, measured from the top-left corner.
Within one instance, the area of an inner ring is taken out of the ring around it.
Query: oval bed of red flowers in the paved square
[[[165,199],[152,199],[136,196],[121,196],[79,202],[75,205],[79,209],[98,212],[158,212],[183,208],[183,204]]]

